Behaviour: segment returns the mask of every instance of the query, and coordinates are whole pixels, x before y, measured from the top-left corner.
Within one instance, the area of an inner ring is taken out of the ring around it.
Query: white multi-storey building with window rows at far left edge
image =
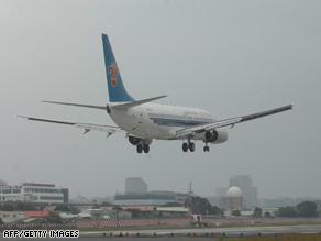
[[[0,183],[0,201],[64,204],[68,199],[68,189],[54,184],[23,183],[10,186],[5,182]]]

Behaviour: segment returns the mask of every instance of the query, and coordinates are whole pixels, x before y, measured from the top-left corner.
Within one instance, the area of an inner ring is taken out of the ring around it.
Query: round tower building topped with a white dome
[[[222,197],[222,209],[241,210],[243,208],[243,195],[239,187],[230,187],[225,197]]]

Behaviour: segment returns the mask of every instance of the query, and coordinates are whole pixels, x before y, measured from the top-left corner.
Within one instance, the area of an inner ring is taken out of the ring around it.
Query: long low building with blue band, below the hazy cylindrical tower
[[[153,190],[147,194],[115,195],[114,204],[120,206],[162,206],[167,202],[184,204],[188,194]]]

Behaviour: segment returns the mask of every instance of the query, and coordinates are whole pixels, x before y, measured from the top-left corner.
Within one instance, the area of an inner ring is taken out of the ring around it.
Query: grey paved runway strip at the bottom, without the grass
[[[111,234],[112,233],[112,234]],[[89,240],[120,240],[120,239],[135,239],[146,240],[151,238],[153,240],[164,240],[168,238],[170,240],[184,240],[184,239],[204,239],[219,240],[222,237],[236,238],[236,237],[274,237],[275,234],[299,234],[299,233],[320,233],[321,239],[321,224],[311,226],[278,226],[278,227],[237,227],[237,228],[206,228],[206,229],[166,229],[166,230],[123,230],[123,231],[92,231],[80,232],[80,239],[84,241]],[[8,238],[1,235],[0,240],[4,241]],[[12,238],[10,240],[21,240],[19,238]],[[29,240],[40,240],[29,238]],[[42,238],[41,240],[62,240]],[[70,239],[68,239],[70,240]]]

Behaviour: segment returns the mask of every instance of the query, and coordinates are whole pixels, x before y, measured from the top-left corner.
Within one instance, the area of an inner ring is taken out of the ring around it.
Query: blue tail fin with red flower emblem
[[[123,85],[122,77],[117,66],[107,34],[101,34],[101,36],[103,45],[107,85],[109,91],[109,101],[110,102],[134,101],[134,98],[128,94]]]

